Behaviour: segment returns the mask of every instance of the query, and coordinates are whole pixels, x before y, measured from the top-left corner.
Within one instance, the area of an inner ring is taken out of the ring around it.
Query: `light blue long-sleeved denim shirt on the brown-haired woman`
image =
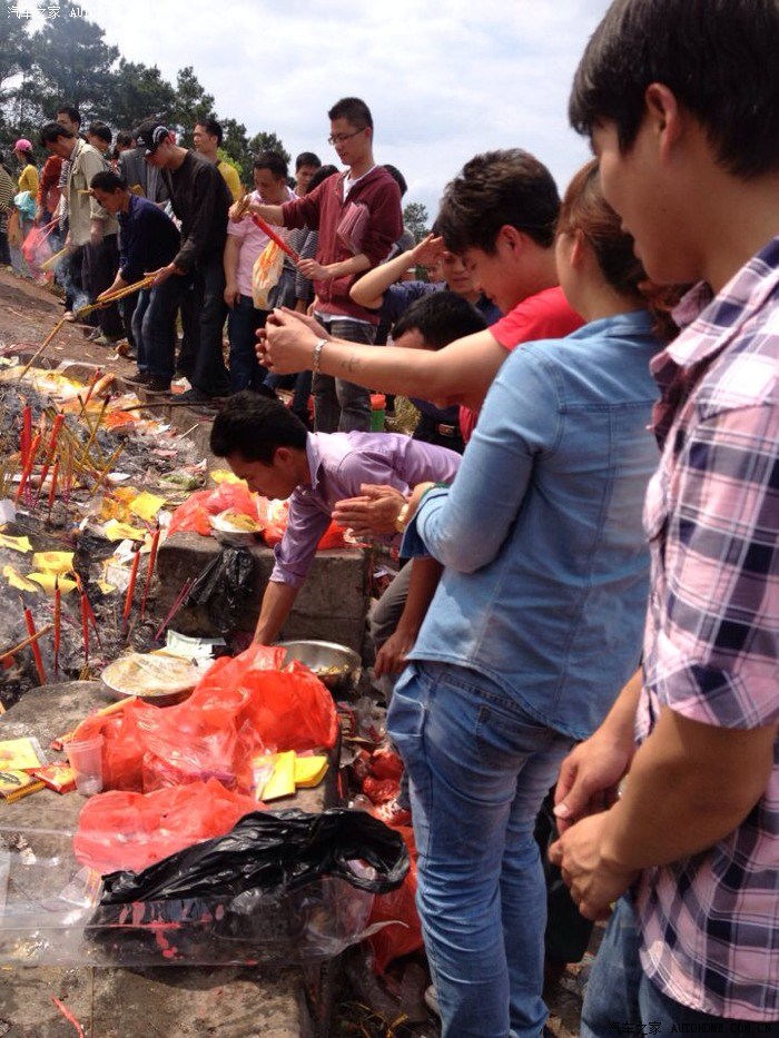
[[[408,660],[476,670],[574,739],[641,653],[641,511],[659,461],[651,328],[639,312],[517,347],[454,485],[425,496],[403,542],[445,566]]]

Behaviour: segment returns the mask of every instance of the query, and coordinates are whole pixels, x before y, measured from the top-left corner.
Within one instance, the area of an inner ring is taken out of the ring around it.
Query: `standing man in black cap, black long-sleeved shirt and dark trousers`
[[[183,397],[189,403],[208,403],[229,392],[221,329],[227,316],[223,254],[230,192],[216,166],[174,144],[166,126],[147,119],[134,136],[144,148],[146,162],[160,171],[181,221],[181,247],[171,263],[156,271],[155,285],[170,278],[170,290],[179,300],[194,285],[193,388]]]

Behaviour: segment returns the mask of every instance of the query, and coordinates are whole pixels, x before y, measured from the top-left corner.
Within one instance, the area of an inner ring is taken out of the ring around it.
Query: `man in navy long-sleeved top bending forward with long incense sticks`
[[[114,284],[98,296],[110,295],[140,281],[146,270],[172,263],[180,246],[176,225],[148,198],[128,190],[117,174],[96,174],[90,188],[98,202],[116,216],[121,228],[119,270]],[[138,375],[128,382],[152,393],[167,393],[176,365],[176,309],[178,294],[170,279],[138,293],[132,334],[138,350]]]

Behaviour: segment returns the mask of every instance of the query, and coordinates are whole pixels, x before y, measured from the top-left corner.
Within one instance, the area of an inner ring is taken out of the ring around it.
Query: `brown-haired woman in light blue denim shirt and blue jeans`
[[[454,485],[416,488],[403,544],[445,566],[388,730],[411,779],[417,902],[450,1038],[543,1030],[535,817],[641,651],[661,344],[594,162],[568,190],[556,249],[588,324],[512,353]]]

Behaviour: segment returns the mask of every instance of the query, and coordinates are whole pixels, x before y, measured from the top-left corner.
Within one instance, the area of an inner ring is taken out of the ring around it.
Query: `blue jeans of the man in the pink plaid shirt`
[[[611,1038],[628,1034],[627,1027],[630,1034],[668,1035],[674,1025],[697,1025],[691,1032],[699,1035],[779,1035],[779,1021],[710,1016],[663,995],[641,967],[640,945],[633,907],[623,897],[609,920],[590,973],[579,1031],[582,1038]]]

